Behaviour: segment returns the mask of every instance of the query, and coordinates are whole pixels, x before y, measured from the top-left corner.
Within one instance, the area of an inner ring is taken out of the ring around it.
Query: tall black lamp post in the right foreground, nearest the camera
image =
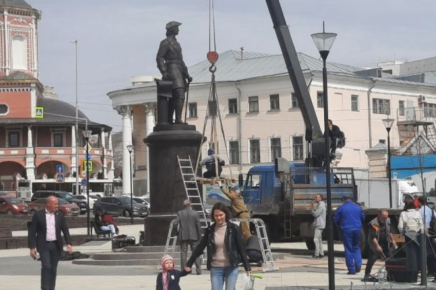
[[[333,249],[333,219],[331,210],[331,182],[330,182],[330,138],[328,127],[328,99],[327,99],[327,68],[326,60],[330,48],[336,38],[336,33],[326,33],[323,22],[323,32],[312,34],[313,42],[323,59],[323,94],[324,94],[324,139],[326,150],[326,187],[327,187],[327,251],[328,251],[328,288],[334,290],[334,249]]]

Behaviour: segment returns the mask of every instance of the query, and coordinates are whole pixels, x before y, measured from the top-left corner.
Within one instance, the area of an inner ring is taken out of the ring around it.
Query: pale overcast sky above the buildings
[[[109,91],[130,77],[156,75],[155,56],[165,24],[182,22],[178,38],[189,66],[206,59],[209,0],[27,0],[42,10],[41,82],[75,102],[74,44],[78,40],[79,106],[95,122],[121,131]],[[434,0],[282,0],[297,51],[318,57],[310,37],[338,33],[329,61],[368,66],[385,60],[434,56]],[[215,0],[216,50],[278,54],[280,47],[263,0]],[[219,69],[219,62],[217,69]]]

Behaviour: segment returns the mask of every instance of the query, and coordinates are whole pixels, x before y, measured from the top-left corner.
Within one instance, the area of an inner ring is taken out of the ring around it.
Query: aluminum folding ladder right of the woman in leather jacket
[[[232,222],[252,222],[256,228],[257,238],[261,246],[263,258],[263,272],[278,271],[272,257],[271,247],[269,246],[268,235],[266,233],[265,222],[262,219],[231,219]]]

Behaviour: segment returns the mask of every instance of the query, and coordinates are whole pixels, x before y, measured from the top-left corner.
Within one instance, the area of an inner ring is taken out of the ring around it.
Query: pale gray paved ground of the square
[[[120,232],[136,239],[142,225],[121,226]],[[72,233],[86,233],[86,229],[72,229]],[[14,236],[25,236],[24,231],[14,232]],[[256,279],[255,290],[285,290],[297,289],[296,287],[327,288],[328,273],[327,259],[310,260],[311,253],[305,250],[304,243],[272,244],[274,249],[286,250],[285,259],[278,262],[278,272],[263,273],[263,279]],[[82,246],[75,246],[84,254],[108,253],[111,251],[110,242],[93,241]],[[343,250],[342,245],[335,244],[335,250]],[[376,270],[381,262],[374,265]],[[111,289],[155,289],[158,271],[153,266],[85,266],[75,265],[71,261],[61,261],[58,266],[57,290],[111,290]],[[41,263],[29,257],[28,249],[0,250],[0,289],[29,290],[38,289],[40,281]],[[256,273],[261,273],[261,268],[253,268]],[[210,277],[207,270],[203,275],[188,275],[181,279],[182,289],[204,290],[210,289]],[[367,284],[360,280],[363,273],[355,276],[346,275],[347,270],[344,259],[335,260],[336,288],[343,289],[411,289],[417,285],[384,283]],[[242,289],[239,277],[237,289]],[[429,282],[430,288],[436,286]],[[300,288],[301,289],[301,288]]]

